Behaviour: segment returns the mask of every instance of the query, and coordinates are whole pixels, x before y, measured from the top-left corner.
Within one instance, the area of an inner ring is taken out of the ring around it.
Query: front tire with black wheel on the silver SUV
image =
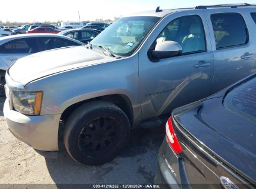
[[[100,165],[109,162],[130,137],[126,114],[105,101],[92,101],[70,114],[64,129],[64,145],[80,164]]]

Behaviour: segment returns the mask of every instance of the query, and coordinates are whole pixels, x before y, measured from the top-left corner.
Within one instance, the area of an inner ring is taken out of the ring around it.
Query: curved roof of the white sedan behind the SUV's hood
[[[70,37],[67,37],[65,35],[57,35],[57,34],[19,34],[19,35],[9,35],[6,37],[0,38],[0,44],[4,44],[7,41],[14,40],[14,39],[22,39],[27,37],[62,37],[68,40],[73,40],[74,42],[77,42],[78,44],[83,44],[82,42],[79,42],[78,40],[72,39]],[[83,44],[84,45],[84,44]]]

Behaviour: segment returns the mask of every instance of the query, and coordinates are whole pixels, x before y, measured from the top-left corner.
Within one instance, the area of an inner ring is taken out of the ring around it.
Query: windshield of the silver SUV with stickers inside
[[[128,57],[159,19],[145,16],[121,18],[103,30],[91,44],[108,48],[115,55]]]

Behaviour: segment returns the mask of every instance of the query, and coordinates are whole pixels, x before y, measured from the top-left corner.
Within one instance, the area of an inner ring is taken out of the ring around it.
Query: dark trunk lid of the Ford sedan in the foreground
[[[178,126],[191,136],[192,141],[197,142],[199,148],[202,147],[219,160],[220,164],[227,165],[234,172],[239,173],[240,178],[255,183],[255,125],[248,120],[237,119],[236,114],[224,108],[222,99],[222,97],[207,99],[202,102],[200,111],[196,108],[174,118]],[[192,144],[188,146],[191,147]],[[196,151],[199,150],[194,152]],[[209,162],[206,161],[205,164]],[[219,177],[227,174],[223,167],[211,166],[211,164],[214,162],[210,162],[209,167]]]

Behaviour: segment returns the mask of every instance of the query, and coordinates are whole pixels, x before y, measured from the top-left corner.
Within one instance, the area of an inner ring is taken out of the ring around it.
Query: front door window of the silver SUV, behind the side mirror
[[[206,39],[201,17],[192,15],[174,19],[158,35],[156,43],[165,40],[178,42],[183,54],[205,51]]]

